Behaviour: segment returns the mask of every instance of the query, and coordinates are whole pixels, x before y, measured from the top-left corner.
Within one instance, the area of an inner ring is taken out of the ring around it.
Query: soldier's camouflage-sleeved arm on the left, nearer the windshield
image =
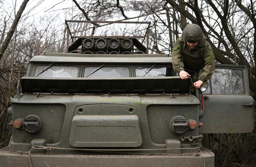
[[[184,70],[184,64],[182,62],[182,46],[183,40],[182,37],[178,38],[172,49],[172,66],[175,72],[179,73],[181,70]]]

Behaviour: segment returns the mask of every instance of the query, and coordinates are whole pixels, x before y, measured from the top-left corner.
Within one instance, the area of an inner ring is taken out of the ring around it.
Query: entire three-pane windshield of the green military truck
[[[155,65],[155,64],[154,64]],[[168,72],[166,66],[135,66],[135,74],[132,75],[131,66],[114,66],[110,64],[99,64],[85,66],[82,74],[80,73],[81,65],[38,65],[35,69],[34,77],[40,78],[121,78],[121,77],[166,77],[173,76]],[[49,69],[47,68],[49,67]],[[167,71],[167,73],[166,73]],[[41,72],[41,73],[40,73]],[[145,75],[145,76],[144,76]]]

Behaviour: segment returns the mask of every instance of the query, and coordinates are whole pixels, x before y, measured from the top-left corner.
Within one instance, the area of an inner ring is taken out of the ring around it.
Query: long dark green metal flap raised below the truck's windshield
[[[35,78],[20,79],[22,92],[47,93],[189,93],[190,80],[163,78]]]

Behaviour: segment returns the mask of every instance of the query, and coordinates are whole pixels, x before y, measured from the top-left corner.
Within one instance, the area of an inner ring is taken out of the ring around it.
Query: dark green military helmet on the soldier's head
[[[203,37],[203,32],[197,24],[189,24],[183,30],[182,37],[188,42],[197,42]]]

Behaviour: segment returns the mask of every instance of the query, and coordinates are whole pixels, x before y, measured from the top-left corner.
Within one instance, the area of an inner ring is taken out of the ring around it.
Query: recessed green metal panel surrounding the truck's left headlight
[[[35,99],[35,98],[34,98]],[[64,123],[66,107],[63,104],[29,104],[12,103],[12,120],[23,119],[28,115],[37,115],[41,119],[41,130],[35,134],[29,134],[25,130],[12,128],[13,143],[29,143],[35,138],[42,138],[47,143],[58,143]]]

